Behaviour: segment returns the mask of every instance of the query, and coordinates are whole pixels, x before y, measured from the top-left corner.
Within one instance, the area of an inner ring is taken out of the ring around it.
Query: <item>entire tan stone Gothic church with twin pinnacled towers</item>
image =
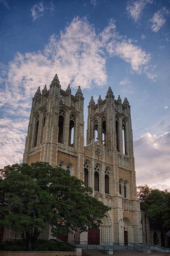
[[[55,75],[49,90],[38,88],[25,141],[23,162],[49,162],[93,188],[91,196],[111,207],[99,230],[76,238],[85,241],[142,242],[140,202],[134,169],[131,109],[127,98],[115,100],[109,87],[105,99],[93,96],[88,105],[88,128],[84,146],[84,98],[80,86],[71,94],[61,89]],[[50,228],[41,238],[52,238]],[[72,240],[72,235],[68,235]],[[91,242],[90,242],[91,243]]]

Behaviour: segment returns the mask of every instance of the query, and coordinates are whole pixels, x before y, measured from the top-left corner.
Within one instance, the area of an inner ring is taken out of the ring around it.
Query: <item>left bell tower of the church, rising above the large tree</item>
[[[23,162],[49,162],[83,179],[83,108],[80,86],[75,96],[70,85],[62,90],[57,74],[49,90],[45,85],[41,93],[38,87],[32,100]]]

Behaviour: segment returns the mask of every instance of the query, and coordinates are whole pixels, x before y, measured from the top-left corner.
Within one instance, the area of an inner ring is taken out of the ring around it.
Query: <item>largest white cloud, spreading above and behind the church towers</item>
[[[50,84],[55,73],[62,89],[68,84],[74,88],[81,85],[82,89],[104,86],[106,61],[114,56],[125,60],[137,73],[145,72],[150,60],[150,54],[119,35],[113,20],[97,35],[86,18],[74,18],[60,36],[50,37],[44,50],[15,55],[0,91],[0,104],[5,104],[10,114],[29,115],[31,97],[37,87],[43,89],[44,84]]]

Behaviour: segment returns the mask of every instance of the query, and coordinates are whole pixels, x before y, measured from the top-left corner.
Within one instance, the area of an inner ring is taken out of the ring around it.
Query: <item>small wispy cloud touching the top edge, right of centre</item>
[[[131,18],[137,22],[147,4],[152,4],[152,0],[131,1],[131,3],[127,5],[126,10]]]

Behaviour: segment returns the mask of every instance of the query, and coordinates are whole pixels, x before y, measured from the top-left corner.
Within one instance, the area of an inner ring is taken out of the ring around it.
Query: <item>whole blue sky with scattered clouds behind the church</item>
[[[170,190],[169,0],[0,0],[0,168],[22,162],[32,98],[55,74],[131,105],[137,185]]]

